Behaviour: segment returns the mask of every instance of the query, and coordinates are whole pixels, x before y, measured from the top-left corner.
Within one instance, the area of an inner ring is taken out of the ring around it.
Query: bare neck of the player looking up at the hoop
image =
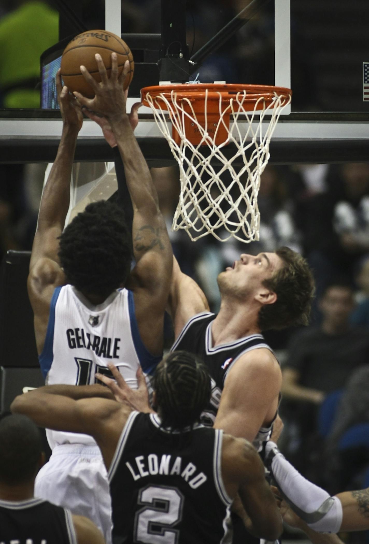
[[[257,324],[259,307],[236,305],[222,300],[220,310],[212,324],[213,345],[232,342],[245,336],[260,334]]]

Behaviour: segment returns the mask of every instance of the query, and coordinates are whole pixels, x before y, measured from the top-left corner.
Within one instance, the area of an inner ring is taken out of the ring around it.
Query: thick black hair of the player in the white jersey
[[[124,285],[131,269],[131,235],[124,212],[108,201],[89,204],[59,237],[67,281],[87,294],[108,296]]]

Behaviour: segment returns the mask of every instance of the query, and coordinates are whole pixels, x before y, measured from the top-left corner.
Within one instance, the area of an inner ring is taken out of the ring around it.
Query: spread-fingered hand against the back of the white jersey
[[[138,388],[136,390],[131,389],[126,384],[125,379],[119,372],[118,368],[114,364],[108,363],[108,368],[114,376],[114,380],[104,376],[103,374],[96,373],[96,378],[109,387],[113,393],[115,400],[119,403],[125,403],[139,412],[151,413],[149,404],[149,391],[147,391],[146,380],[141,367],[138,368],[136,376],[138,382]]]

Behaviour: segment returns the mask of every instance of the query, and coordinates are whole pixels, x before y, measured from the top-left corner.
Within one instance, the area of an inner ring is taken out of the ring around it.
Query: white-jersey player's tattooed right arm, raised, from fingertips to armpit
[[[84,77],[95,91],[95,97],[89,100],[76,92],[75,95],[83,106],[109,121],[124,163],[133,206],[132,238],[136,259],[136,267],[127,287],[133,290],[136,318],[143,342],[152,354],[159,355],[162,351],[164,310],[169,294],[173,252],[150,171],[126,113],[123,84],[129,63],[125,64],[118,76],[118,61],[113,53],[112,71],[108,78],[100,55],[95,55],[95,58],[101,83],[96,83],[81,66]]]

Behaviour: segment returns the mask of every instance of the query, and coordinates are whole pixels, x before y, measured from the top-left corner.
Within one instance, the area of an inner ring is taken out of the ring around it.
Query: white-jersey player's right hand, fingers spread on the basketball
[[[121,74],[118,75],[118,60],[116,53],[112,53],[112,70],[110,77],[108,77],[101,55],[96,53],[95,59],[101,83],[97,83],[85,66],[80,67],[85,80],[93,88],[95,97],[86,98],[77,91],[73,92],[73,94],[78,98],[82,106],[103,115],[107,119],[119,118],[126,115],[126,93],[124,92],[123,85],[130,69],[129,61],[126,60]]]

